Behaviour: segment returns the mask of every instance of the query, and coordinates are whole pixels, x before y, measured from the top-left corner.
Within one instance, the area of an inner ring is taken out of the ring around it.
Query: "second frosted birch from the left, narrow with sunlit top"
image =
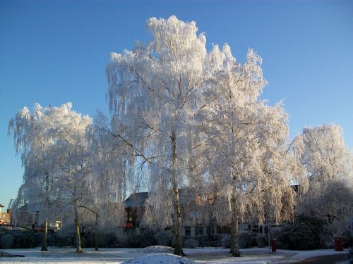
[[[80,242],[80,219],[78,208],[90,201],[90,175],[92,174],[92,155],[88,146],[86,130],[92,124],[88,115],[71,110],[71,104],[61,110],[58,124],[60,136],[56,138],[56,177],[59,179],[59,201],[64,209],[73,210],[76,231],[76,252],[82,252]],[[91,209],[92,210],[92,209]]]

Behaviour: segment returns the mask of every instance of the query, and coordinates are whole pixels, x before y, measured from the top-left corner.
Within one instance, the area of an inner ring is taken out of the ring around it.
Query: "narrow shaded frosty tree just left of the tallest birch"
[[[126,199],[126,146],[111,133],[107,118],[98,113],[94,124],[88,129],[88,144],[92,173],[88,181],[90,208],[95,214],[95,236],[97,248],[98,217],[100,228],[122,225],[124,222],[124,200]]]

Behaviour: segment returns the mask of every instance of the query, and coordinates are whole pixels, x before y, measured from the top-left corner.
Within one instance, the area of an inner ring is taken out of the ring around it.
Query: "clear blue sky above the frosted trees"
[[[208,48],[227,42],[238,61],[263,57],[263,98],[285,99],[292,137],[336,123],[353,147],[353,1],[0,1],[0,203],[16,198],[23,169],[8,120],[34,103],[71,101],[107,112],[111,51],[150,35],[151,16],[195,20]]]

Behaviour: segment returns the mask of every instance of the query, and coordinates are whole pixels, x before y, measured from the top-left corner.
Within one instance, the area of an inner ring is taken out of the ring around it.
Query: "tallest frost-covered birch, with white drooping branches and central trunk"
[[[205,81],[205,36],[197,35],[194,22],[175,16],[150,18],[152,41],[136,44],[133,51],[112,53],[107,66],[109,109],[116,138],[130,147],[136,163],[147,165],[155,208],[164,206],[160,225],[169,225],[174,215],[176,247],[182,252],[179,188],[191,176],[189,160],[197,133],[193,115],[198,93]],[[161,195],[164,195],[161,197]],[[169,206],[168,206],[169,205]]]

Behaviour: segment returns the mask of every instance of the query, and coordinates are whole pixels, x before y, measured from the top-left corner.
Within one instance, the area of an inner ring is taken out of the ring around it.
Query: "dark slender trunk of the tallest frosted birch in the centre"
[[[182,237],[182,222],[181,222],[181,207],[179,201],[179,190],[177,181],[177,138],[172,132],[172,151],[173,151],[173,168],[172,168],[172,193],[174,212],[177,216],[175,222],[175,249],[174,254],[179,256],[186,256],[183,252],[183,237]]]

